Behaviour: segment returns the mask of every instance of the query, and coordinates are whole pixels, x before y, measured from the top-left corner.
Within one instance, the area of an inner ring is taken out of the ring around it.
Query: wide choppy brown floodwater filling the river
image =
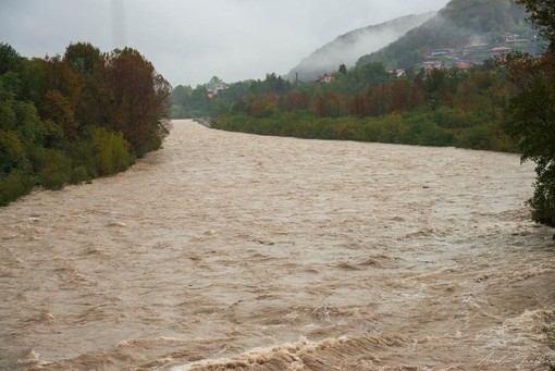
[[[176,121],[127,172],[0,209],[0,369],[547,370],[533,178]]]

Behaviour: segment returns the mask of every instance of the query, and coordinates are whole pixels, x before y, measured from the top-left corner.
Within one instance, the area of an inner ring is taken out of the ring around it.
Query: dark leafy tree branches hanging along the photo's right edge
[[[514,87],[507,128],[518,143],[522,160],[536,163],[535,190],[529,201],[532,218],[555,226],[555,3],[515,2],[530,13],[548,48],[538,58],[517,53],[507,60]]]

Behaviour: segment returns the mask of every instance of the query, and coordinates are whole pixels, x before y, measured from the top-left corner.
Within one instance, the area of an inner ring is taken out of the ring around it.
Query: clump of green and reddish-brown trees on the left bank
[[[27,59],[0,44],[0,206],[118,173],[160,148],[170,92],[135,49],[77,42]]]

